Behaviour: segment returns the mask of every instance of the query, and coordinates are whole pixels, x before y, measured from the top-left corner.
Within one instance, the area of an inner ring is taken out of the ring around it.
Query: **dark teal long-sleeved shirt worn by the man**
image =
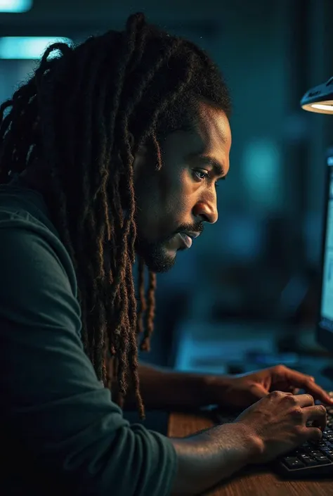
[[[74,267],[43,197],[0,186],[1,495],[169,495],[173,445],[123,418],[80,332]]]

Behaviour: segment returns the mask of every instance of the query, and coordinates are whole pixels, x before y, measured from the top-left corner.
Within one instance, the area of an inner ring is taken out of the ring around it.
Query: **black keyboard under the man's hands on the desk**
[[[333,395],[333,393],[329,393]],[[318,404],[319,402],[315,402]],[[327,407],[327,426],[319,443],[305,443],[273,462],[273,470],[285,478],[333,476],[333,408]],[[226,424],[238,414],[218,414],[218,423]]]

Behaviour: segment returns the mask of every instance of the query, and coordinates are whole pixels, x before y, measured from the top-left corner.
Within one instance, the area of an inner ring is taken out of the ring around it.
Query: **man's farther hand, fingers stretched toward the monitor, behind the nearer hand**
[[[296,393],[298,388],[306,390],[315,400],[333,405],[332,398],[315,383],[311,376],[301,374],[285,365],[276,365],[250,374],[207,377],[209,402],[223,407],[243,409],[261,400],[271,391]]]

